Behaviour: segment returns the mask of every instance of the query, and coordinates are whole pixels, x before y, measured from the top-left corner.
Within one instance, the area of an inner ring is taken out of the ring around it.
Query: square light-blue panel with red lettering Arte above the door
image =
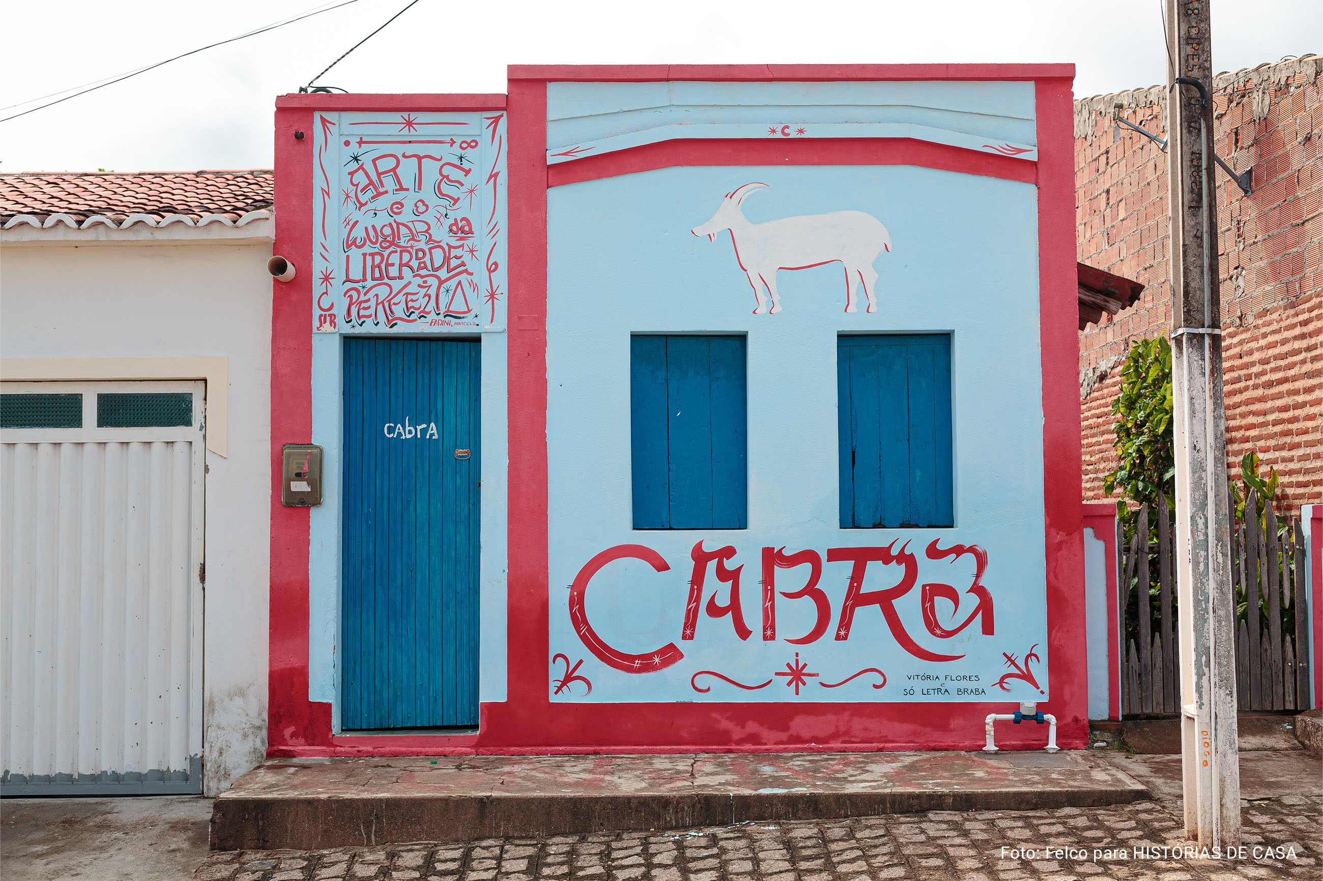
[[[505,325],[505,115],[318,114],[315,330]]]

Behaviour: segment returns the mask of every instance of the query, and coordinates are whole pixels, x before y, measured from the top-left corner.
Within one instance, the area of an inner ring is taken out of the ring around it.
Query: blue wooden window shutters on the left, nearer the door
[[[744,528],[744,337],[632,337],[634,528]]]

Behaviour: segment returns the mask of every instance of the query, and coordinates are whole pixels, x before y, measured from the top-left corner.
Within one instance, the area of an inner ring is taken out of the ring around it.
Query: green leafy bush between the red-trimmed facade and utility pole
[[[1121,466],[1102,478],[1107,495],[1119,493],[1117,516],[1132,518],[1131,506],[1175,507],[1176,457],[1172,440],[1171,345],[1164,337],[1139,339],[1121,367],[1121,394],[1111,402]]]

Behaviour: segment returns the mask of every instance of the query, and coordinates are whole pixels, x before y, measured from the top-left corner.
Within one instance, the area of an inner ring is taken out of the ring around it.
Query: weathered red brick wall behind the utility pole
[[[1230,474],[1257,450],[1281,476],[1279,510],[1323,502],[1323,57],[1221,74],[1217,153],[1253,166],[1250,195],[1217,172],[1222,382]],[[1080,262],[1146,284],[1140,300],[1080,333],[1084,494],[1117,466],[1111,402],[1130,341],[1171,333],[1167,156],[1119,125],[1166,137],[1166,88],[1076,102]],[[1088,394],[1085,394],[1088,391]]]

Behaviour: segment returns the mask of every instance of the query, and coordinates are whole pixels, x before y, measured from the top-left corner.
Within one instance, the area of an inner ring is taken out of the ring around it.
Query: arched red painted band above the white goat
[[[564,186],[676,165],[918,165],[1024,184],[1036,184],[1039,174],[1036,165],[1023,159],[910,137],[680,139],[552,165],[546,169],[546,185]]]

